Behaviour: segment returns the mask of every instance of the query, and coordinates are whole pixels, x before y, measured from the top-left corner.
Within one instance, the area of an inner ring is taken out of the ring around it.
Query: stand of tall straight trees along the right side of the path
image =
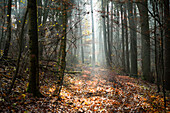
[[[169,1],[166,0],[164,2],[117,0],[112,4],[109,0],[101,0],[106,64],[111,64],[112,68],[121,67],[118,70],[122,69],[132,76],[142,75],[143,79],[148,82],[155,81],[158,86],[160,81],[165,80],[167,87],[169,84],[168,3]],[[109,9],[112,10],[109,11]],[[121,19],[118,19],[119,13],[121,13]],[[108,21],[109,19],[111,21]],[[121,43],[121,47],[118,43]],[[121,56],[119,56],[120,52]]]

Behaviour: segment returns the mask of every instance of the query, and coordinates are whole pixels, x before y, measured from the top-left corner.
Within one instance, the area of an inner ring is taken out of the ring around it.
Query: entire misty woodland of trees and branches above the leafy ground
[[[5,66],[12,61],[15,67],[21,64],[16,59],[23,59],[23,68],[16,68],[15,72],[22,75],[29,71],[28,92],[34,96],[42,96],[41,72],[50,70],[56,75],[59,94],[66,65],[73,68],[79,60],[84,64],[91,62],[93,67],[101,61],[100,64],[106,64],[118,74],[142,77],[156,82],[158,91],[161,85],[169,90],[169,1],[100,0],[98,3],[99,10],[93,10],[92,0],[28,0],[28,5],[23,1],[3,0],[0,2],[0,61],[6,62]],[[84,8],[86,5],[91,5],[92,23],[90,18],[84,18],[90,14]],[[29,19],[25,15],[23,22],[26,6]],[[100,13],[99,25],[94,24],[94,13]],[[102,55],[96,55],[98,50]],[[11,59],[6,60],[8,57]]]

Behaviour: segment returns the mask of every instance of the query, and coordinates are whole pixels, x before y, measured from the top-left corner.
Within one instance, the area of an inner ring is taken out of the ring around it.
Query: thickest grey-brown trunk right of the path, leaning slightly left
[[[150,33],[149,33],[149,19],[148,19],[148,4],[147,0],[142,0],[138,3],[141,24],[141,39],[142,39],[142,73],[145,80],[152,82],[150,75]]]

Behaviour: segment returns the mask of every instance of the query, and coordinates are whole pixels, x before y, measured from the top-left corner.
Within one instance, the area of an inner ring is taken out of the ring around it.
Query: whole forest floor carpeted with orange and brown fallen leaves
[[[55,75],[41,72],[41,92],[44,98],[33,98],[26,93],[27,77],[17,79],[9,102],[3,88],[11,80],[9,74],[1,75],[0,112],[68,112],[68,113],[115,113],[115,112],[163,112],[164,101],[161,93],[156,93],[156,85],[142,79],[117,75],[114,71],[82,66],[82,72],[65,74],[61,99],[52,96],[56,88]],[[4,77],[5,76],[5,77]],[[167,97],[170,100],[170,97]],[[167,112],[170,112],[170,101]]]

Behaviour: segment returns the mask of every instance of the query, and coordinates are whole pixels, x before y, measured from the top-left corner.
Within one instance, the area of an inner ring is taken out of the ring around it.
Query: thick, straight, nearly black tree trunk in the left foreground
[[[29,26],[28,35],[30,50],[30,73],[28,92],[41,97],[39,91],[39,58],[38,58],[38,27],[37,27],[37,0],[28,0]]]

